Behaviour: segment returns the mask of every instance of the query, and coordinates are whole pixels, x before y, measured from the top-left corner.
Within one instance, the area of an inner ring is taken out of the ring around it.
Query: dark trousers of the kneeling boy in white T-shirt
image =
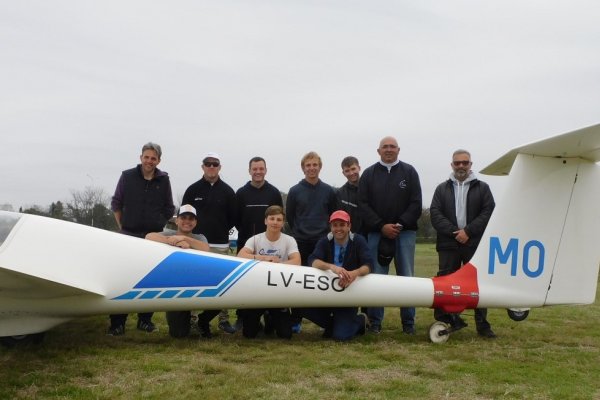
[[[243,322],[242,334],[246,338],[255,338],[261,330],[260,317],[264,316],[265,333],[273,329],[277,337],[292,337],[292,319],[287,308],[252,308],[239,310]]]

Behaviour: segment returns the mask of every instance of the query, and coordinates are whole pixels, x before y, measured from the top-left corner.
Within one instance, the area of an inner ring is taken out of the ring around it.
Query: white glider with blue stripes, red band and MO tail
[[[594,301],[600,261],[600,125],[517,148],[483,172],[509,188],[473,259],[443,277],[333,273],[182,250],[0,211],[0,337],[75,317],[222,308],[533,308]]]

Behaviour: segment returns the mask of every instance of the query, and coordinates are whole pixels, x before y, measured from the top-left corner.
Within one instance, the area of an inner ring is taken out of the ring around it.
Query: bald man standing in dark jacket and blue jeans
[[[422,212],[419,175],[414,167],[398,159],[400,147],[387,136],[377,149],[380,161],[368,167],[358,188],[359,208],[368,226],[373,272],[387,275],[392,258],[396,275],[414,276],[417,221]],[[369,307],[370,330],[381,332],[383,307]],[[402,331],[415,334],[415,309],[400,309]]]

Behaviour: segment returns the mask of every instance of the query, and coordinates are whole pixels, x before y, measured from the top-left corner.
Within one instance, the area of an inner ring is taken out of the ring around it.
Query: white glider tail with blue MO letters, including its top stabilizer
[[[594,302],[599,159],[595,125],[514,149],[482,171],[510,176],[471,260],[479,307]]]

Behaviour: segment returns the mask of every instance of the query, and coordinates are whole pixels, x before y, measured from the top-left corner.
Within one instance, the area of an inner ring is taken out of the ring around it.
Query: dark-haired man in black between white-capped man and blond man
[[[238,253],[246,241],[265,227],[265,211],[270,206],[283,207],[279,190],[265,180],[267,163],[262,157],[253,157],[248,163],[250,181],[235,193],[237,202]]]

